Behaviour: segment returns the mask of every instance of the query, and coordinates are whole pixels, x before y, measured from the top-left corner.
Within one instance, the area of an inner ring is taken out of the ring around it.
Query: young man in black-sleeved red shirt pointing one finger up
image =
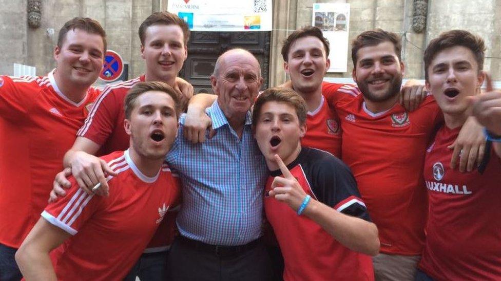
[[[264,209],[284,257],[283,278],[373,280],[369,255],[379,250],[377,228],[350,169],[301,146],[306,114],[303,98],[284,88],[264,91],[253,111],[254,134],[271,171]]]

